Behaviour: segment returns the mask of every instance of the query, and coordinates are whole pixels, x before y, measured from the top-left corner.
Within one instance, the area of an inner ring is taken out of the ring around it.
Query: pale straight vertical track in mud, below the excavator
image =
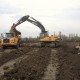
[[[56,80],[58,62],[57,62],[57,50],[51,49],[51,56],[48,66],[45,69],[42,80]]]

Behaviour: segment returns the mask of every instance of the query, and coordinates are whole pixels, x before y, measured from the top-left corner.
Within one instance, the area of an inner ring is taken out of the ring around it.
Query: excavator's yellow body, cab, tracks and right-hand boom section
[[[42,47],[49,46],[49,44],[52,44],[52,45],[54,44],[55,47],[60,45],[60,43],[59,43],[61,40],[60,35],[49,36],[48,31],[45,30],[45,27],[42,25],[42,23],[39,22],[38,20],[34,19],[33,17],[28,17],[27,21],[36,25],[37,27],[39,27],[41,29],[41,33],[39,36],[40,37],[39,42],[41,43]]]

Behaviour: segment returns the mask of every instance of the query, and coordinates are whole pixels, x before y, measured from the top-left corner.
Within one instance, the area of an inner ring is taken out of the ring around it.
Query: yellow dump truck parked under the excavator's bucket
[[[5,49],[6,47],[9,46],[14,46],[15,48],[17,48],[18,41],[19,41],[18,37],[15,36],[13,33],[2,33],[0,39],[0,45],[2,49]]]

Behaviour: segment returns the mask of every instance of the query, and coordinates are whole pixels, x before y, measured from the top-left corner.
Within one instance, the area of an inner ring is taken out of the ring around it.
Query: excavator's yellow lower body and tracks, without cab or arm
[[[60,36],[59,35],[51,35],[40,39],[41,46],[49,46],[49,47],[58,47],[60,46]]]

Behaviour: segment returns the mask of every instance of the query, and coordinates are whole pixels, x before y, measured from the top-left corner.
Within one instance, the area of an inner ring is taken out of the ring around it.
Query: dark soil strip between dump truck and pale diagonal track
[[[24,48],[17,49],[14,51],[12,50],[11,52],[1,53],[1,55],[0,55],[0,66],[6,62],[12,60],[12,59],[18,58],[21,55],[27,54],[31,50],[32,50],[32,48],[24,47]]]

